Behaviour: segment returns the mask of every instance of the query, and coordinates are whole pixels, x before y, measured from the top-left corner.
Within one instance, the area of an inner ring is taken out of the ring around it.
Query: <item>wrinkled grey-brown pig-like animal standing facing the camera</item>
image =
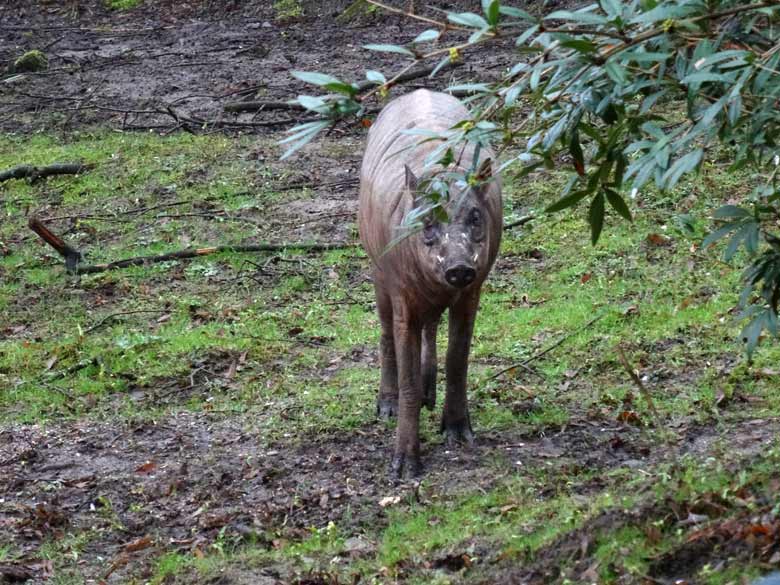
[[[382,325],[377,413],[398,416],[394,477],[420,471],[420,408],[433,409],[436,402],[436,331],[445,309],[449,346],[441,428],[450,444],[473,442],[466,399],[468,355],[482,283],[496,258],[502,227],[492,153],[483,149],[480,156],[479,175],[488,179],[486,184],[465,193],[451,185],[451,200],[462,204],[448,210],[448,223],[430,218],[422,232],[387,248],[397,235],[395,228],[415,206],[425,158],[439,144],[431,141],[399,153],[421,140],[402,132],[415,127],[443,131],[468,117],[463,104],[447,94],[407,94],[382,110],[363,157],[358,219],[360,239],[374,265]],[[456,159],[455,168],[469,168],[472,147],[464,147]]]

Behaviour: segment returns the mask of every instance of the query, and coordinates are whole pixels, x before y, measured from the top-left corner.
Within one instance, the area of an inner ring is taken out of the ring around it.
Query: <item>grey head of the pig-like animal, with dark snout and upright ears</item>
[[[448,185],[449,200],[447,219],[442,221],[429,213],[423,219],[422,231],[414,236],[415,246],[425,264],[426,272],[435,274],[446,286],[462,289],[484,276],[490,267],[490,231],[497,222],[491,218],[486,193],[492,179],[492,164],[482,162],[475,185],[453,181]],[[419,181],[406,167],[406,187],[417,193]],[[420,198],[418,198],[419,201]]]

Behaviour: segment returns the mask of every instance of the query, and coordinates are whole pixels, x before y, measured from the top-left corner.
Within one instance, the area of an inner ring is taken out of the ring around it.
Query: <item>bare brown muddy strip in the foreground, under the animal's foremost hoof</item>
[[[656,449],[638,429],[606,424],[582,420],[543,437],[482,434],[472,450],[428,444],[422,495],[416,483],[387,481],[392,433],[379,423],[292,445],[267,443],[262,418],[191,413],[119,429],[94,422],[16,426],[0,432],[0,527],[31,555],[66,530],[88,533],[78,561],[84,576],[107,578],[110,569],[112,582],[121,582],[144,578],[162,551],[206,549],[220,537],[270,548],[273,535],[305,537],[331,521],[361,534],[386,525],[388,509],[421,498],[489,490],[551,464],[584,466],[598,477],[686,453],[705,457],[720,438],[713,428],[691,427],[676,447]],[[751,421],[732,430],[730,441],[749,458],[779,429]],[[524,575],[541,574],[559,558],[540,555]],[[45,566],[37,571],[46,575]]]

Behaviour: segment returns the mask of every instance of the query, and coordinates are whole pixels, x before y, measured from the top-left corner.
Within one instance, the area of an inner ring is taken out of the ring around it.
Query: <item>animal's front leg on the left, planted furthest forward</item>
[[[414,477],[420,472],[420,405],[422,326],[402,301],[393,303],[393,336],[398,366],[398,429],[391,475]]]

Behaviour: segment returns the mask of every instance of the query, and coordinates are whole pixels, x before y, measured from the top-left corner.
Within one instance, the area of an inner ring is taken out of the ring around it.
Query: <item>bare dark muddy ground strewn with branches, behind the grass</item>
[[[349,4],[344,1],[304,3],[304,16],[292,20],[280,19],[271,2],[225,4],[149,2],[132,11],[112,12],[100,2],[76,3],[80,10],[12,2],[0,15],[0,63],[43,49],[49,67],[5,76],[0,83],[0,129],[30,131],[54,125],[68,130],[108,123],[123,129],[173,130],[182,126],[180,116],[239,122],[245,126],[234,129],[267,132],[251,124],[295,120],[302,113],[231,114],[223,111],[224,104],[289,100],[311,91],[290,76],[296,69],[327,70],[360,81],[370,61],[371,68],[391,74],[403,66],[403,59],[367,55],[362,45],[405,42],[424,28],[379,14],[345,26],[335,18]],[[495,48],[478,55],[474,62],[488,69],[508,62]],[[468,76],[468,71],[459,75]],[[441,87],[447,80],[441,75],[419,84]]]

